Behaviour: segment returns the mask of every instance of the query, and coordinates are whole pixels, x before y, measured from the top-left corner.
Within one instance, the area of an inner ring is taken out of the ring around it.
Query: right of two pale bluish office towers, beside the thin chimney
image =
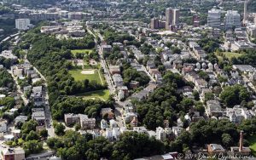
[[[225,14],[224,24],[226,27],[240,27],[241,26],[241,16],[235,10],[228,10]]]

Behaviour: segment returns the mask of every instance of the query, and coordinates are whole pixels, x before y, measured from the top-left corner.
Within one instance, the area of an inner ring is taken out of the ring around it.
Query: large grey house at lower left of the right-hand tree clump
[[[218,100],[207,100],[206,113],[208,117],[222,117],[223,111]]]

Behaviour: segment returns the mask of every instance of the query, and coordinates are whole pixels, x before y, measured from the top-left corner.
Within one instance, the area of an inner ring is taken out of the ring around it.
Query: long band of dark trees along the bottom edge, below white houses
[[[49,138],[47,145],[63,159],[134,159],[161,154],[164,145],[146,134],[122,134],[119,141],[111,143],[103,137],[92,140],[90,134],[81,135],[68,130],[60,138]]]

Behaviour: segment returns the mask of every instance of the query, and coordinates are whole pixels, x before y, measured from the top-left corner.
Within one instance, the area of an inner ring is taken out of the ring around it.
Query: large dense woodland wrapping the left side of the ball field
[[[84,37],[85,40],[57,40],[55,37],[36,34],[32,38],[32,49],[27,57],[34,66],[46,77],[49,89],[49,102],[52,104],[59,95],[78,94],[86,91],[105,89],[101,84],[84,81],[75,81],[68,73],[72,64],[67,59],[72,57],[69,49],[91,49],[93,45],[88,43],[91,37]],[[29,35],[26,36],[27,38]],[[27,40],[28,41],[28,40]],[[29,42],[29,41],[28,41]],[[77,44],[80,43],[80,44]],[[80,47],[77,47],[80,46]]]

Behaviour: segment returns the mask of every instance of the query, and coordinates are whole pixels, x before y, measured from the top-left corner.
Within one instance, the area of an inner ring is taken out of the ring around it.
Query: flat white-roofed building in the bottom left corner
[[[24,160],[25,151],[22,148],[0,147],[0,159],[3,160]]]

